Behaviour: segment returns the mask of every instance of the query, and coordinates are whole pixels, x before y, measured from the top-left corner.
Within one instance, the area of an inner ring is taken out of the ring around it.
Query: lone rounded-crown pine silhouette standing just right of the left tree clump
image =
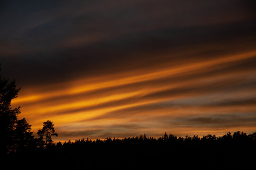
[[[37,135],[42,140],[45,139],[45,145],[52,144],[52,136],[58,136],[58,134],[55,133],[54,124],[50,120],[43,123],[43,128],[38,130]]]

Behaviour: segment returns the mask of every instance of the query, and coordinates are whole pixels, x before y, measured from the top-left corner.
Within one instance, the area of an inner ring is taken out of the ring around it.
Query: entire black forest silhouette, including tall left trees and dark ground
[[[136,137],[78,139],[54,143],[53,122],[47,120],[37,137],[20,107],[11,100],[20,88],[0,76],[0,154],[2,166],[34,169],[255,169],[256,132],[228,132],[224,136]]]

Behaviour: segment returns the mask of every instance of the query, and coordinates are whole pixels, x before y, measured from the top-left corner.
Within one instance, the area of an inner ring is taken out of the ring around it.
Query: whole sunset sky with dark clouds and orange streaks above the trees
[[[1,75],[55,141],[256,131],[255,0],[1,0]]]

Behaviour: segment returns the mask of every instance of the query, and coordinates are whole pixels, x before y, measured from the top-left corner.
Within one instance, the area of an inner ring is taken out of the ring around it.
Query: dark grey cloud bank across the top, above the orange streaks
[[[172,62],[173,57],[155,55],[191,44],[198,44],[198,50],[210,42],[242,50],[248,48],[243,44],[255,43],[249,1],[2,3],[0,36],[6,48],[1,63],[4,75],[16,77],[22,86],[147,68],[157,60]]]

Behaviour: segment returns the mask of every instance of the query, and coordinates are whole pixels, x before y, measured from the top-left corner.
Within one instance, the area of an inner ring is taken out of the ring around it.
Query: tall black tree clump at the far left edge
[[[15,80],[9,81],[0,75],[0,153],[17,152],[24,141],[33,138],[26,119],[18,120],[20,107],[11,108],[11,101],[18,96],[19,90]]]

